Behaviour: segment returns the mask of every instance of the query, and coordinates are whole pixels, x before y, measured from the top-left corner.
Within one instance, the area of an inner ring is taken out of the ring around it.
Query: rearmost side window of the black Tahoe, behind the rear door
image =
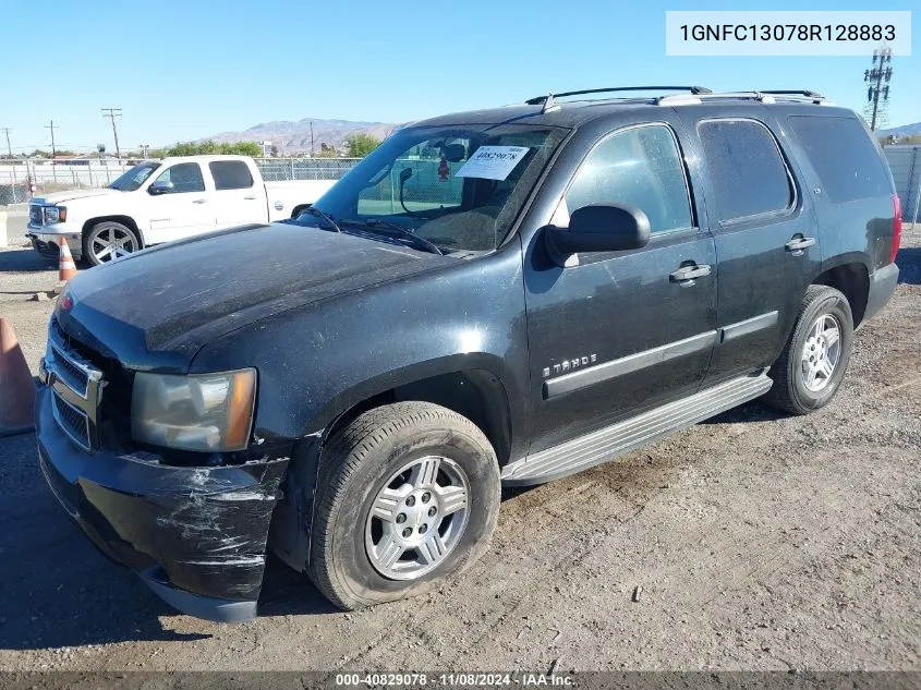
[[[880,154],[853,118],[791,116],[790,128],[832,202],[892,194]]]

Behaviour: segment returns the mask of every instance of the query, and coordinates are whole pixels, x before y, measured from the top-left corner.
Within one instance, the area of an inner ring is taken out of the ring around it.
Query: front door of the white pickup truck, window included
[[[205,189],[205,178],[197,162],[170,166],[154,180],[169,183],[168,191],[147,199],[148,244],[179,240],[215,229],[211,193]]]

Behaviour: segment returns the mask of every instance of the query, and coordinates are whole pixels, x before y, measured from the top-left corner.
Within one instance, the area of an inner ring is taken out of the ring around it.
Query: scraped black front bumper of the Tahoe
[[[185,614],[254,618],[289,458],[186,468],[143,455],[85,452],[58,426],[51,397],[43,386],[36,400],[41,471],[89,540]]]

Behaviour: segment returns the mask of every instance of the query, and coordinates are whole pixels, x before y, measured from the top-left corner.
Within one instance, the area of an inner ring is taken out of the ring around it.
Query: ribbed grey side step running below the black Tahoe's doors
[[[764,395],[771,388],[767,370],[740,376],[689,398],[630,417],[611,426],[547,448],[502,470],[502,485],[531,486],[552,482],[626,455],[662,436]]]

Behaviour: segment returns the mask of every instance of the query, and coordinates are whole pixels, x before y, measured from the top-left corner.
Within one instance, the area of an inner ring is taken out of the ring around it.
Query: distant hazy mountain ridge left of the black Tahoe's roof
[[[350,134],[371,134],[384,140],[396,125],[387,122],[355,122],[352,120],[323,120],[319,118],[304,118],[292,122],[277,120],[263,122],[242,132],[221,132],[208,136],[214,142],[271,142],[279,152],[284,154],[310,153],[311,124],[313,124],[313,149],[319,152],[322,144],[332,146],[339,150],[344,148],[346,138]]]

